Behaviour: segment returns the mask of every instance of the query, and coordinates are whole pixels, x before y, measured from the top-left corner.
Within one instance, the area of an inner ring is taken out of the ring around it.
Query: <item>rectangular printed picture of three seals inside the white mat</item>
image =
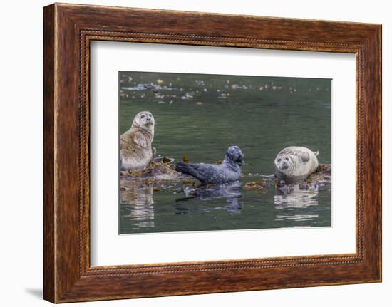
[[[332,225],[331,78],[118,81],[119,234]]]

